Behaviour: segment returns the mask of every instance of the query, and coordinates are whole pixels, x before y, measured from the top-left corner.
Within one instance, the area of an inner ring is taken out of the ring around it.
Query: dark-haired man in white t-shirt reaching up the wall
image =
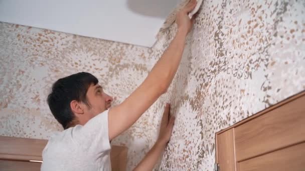
[[[190,19],[188,12],[195,6],[196,0],[191,0],[177,13],[175,38],[146,79],[121,104],[109,109],[112,97],[90,73],[72,74],[53,84],[48,104],[65,130],[49,139],[41,170],[111,170],[109,141],[129,128],[167,91],[193,25],[194,18]],[[151,170],[162,156],[175,120],[169,113],[167,104],[158,140],[134,170]]]

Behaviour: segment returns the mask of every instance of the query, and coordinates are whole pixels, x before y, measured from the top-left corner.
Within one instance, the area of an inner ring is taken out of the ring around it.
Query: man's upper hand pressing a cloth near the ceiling
[[[194,18],[190,19],[189,12],[191,12],[197,4],[197,0],[191,0],[185,7],[183,7],[176,14],[176,23],[178,26],[178,31],[182,31],[184,33],[189,33],[192,29]]]

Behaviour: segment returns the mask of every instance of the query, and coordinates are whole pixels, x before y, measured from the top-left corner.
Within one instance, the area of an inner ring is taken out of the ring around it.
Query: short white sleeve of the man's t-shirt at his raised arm
[[[102,154],[110,149],[108,133],[108,111],[91,118],[85,125],[77,125],[73,130],[73,139],[84,150]]]

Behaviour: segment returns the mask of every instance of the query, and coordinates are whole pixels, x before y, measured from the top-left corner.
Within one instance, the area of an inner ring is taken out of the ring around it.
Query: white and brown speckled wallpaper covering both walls
[[[113,144],[128,170],[154,144],[165,102],[176,123],[156,170],[213,170],[215,132],[305,89],[305,1],[205,0],[168,92]],[[0,23],[0,134],[49,138],[62,130],[46,103],[52,83],[78,71],[121,102],[175,34],[153,48]]]

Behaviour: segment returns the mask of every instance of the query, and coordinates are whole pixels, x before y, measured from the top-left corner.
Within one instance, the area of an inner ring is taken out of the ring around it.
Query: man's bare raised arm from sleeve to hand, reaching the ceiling
[[[129,128],[160,95],[167,91],[180,64],[186,36],[193,25],[193,19],[189,18],[188,12],[194,9],[196,3],[196,0],[191,0],[177,13],[177,33],[145,80],[121,104],[109,110],[110,140]]]

